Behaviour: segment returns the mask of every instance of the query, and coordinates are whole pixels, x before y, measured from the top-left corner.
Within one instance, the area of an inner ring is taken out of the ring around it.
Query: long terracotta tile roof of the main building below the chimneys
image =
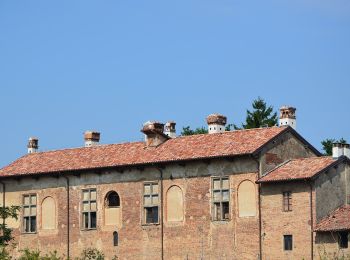
[[[290,127],[257,128],[218,134],[183,136],[147,148],[144,142],[99,145],[27,154],[0,170],[18,176],[128,165],[145,165],[252,154]]]

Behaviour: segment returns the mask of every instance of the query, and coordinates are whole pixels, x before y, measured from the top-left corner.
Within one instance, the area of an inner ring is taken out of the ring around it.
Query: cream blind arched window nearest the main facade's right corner
[[[251,181],[243,181],[238,187],[238,211],[240,217],[256,215],[255,185]]]

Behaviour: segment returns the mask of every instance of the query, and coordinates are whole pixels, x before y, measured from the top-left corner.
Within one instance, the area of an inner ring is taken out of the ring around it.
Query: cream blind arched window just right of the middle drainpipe
[[[171,186],[167,192],[167,220],[183,221],[183,195],[179,186]]]

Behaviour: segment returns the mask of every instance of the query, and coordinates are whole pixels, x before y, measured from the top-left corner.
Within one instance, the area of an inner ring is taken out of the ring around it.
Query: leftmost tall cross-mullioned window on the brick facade
[[[23,232],[36,232],[36,194],[23,196]]]

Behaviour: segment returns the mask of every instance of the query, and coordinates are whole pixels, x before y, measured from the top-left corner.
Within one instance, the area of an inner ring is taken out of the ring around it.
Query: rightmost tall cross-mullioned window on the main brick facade
[[[213,220],[228,220],[230,215],[230,190],[228,177],[213,178]]]

